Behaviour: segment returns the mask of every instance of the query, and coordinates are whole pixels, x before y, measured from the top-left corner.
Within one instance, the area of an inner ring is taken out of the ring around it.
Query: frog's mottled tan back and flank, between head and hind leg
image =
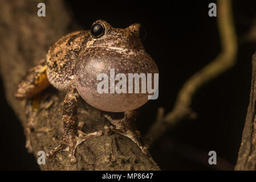
[[[88,31],[75,31],[54,43],[46,56],[47,77],[50,84],[59,90],[67,90],[74,78],[74,68]]]

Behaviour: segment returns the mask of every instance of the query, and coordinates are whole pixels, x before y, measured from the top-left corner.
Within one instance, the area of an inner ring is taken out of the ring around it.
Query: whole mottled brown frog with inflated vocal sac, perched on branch
[[[108,128],[131,138],[147,154],[141,145],[139,133],[132,130],[135,109],[148,101],[147,94],[97,93],[97,75],[115,69],[118,73],[158,73],[151,56],[145,52],[141,41],[145,30],[140,24],[127,28],[113,28],[104,20],[97,20],[91,30],[76,31],[59,39],[50,47],[46,61],[42,60],[23,78],[15,97],[19,100],[33,97],[48,85],[66,92],[63,106],[63,136],[58,147],[47,156],[68,151],[71,163],[76,163],[75,149],[91,137],[99,137],[102,131],[84,134],[78,129],[76,110],[81,96],[97,109],[111,112],[124,111],[124,118],[114,120],[105,115],[112,125]]]

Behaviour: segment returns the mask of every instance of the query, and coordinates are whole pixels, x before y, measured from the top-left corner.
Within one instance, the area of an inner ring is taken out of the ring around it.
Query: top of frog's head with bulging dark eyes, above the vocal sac
[[[144,52],[143,41],[147,36],[145,29],[135,23],[127,28],[113,28],[104,20],[97,20],[90,30],[91,40],[86,43],[87,47],[107,46],[117,49],[133,49]]]

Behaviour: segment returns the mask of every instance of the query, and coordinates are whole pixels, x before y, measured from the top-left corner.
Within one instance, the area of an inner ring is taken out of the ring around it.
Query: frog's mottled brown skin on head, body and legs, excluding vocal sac
[[[127,28],[113,28],[103,20],[97,20],[95,23],[103,23],[105,26],[105,34],[99,39],[91,34],[90,31],[72,32],[59,39],[50,47],[45,61],[41,61],[36,67],[32,68],[18,86],[15,97],[23,99],[33,97],[49,84],[66,93],[63,106],[63,137],[62,142],[54,150],[50,151],[47,156],[51,157],[60,151],[68,151],[72,164],[76,163],[75,149],[78,144],[91,137],[99,137],[102,131],[84,134],[78,127],[78,118],[76,111],[78,107],[78,98],[80,96],[78,85],[84,85],[83,73],[81,72],[83,61],[88,59],[90,55],[112,55],[117,53],[123,55],[139,56],[139,59],[150,56],[145,53],[143,44],[139,39],[140,24],[132,24]],[[110,49],[109,49],[110,47]],[[117,48],[117,52],[113,52]],[[128,53],[128,54],[127,54]],[[141,55],[141,57],[140,57]],[[87,56],[87,57],[86,57]],[[133,58],[132,58],[133,59]],[[132,60],[131,59],[131,60]],[[80,63],[80,64],[79,64]],[[135,69],[139,67],[148,67],[152,73],[158,73],[155,63],[153,64],[136,64],[129,65],[129,68]],[[120,72],[125,72],[124,67]],[[128,67],[127,67],[128,68]],[[141,69],[143,71],[143,69]],[[75,73],[74,73],[75,71]],[[147,72],[145,72],[147,73]],[[47,75],[47,76],[46,76]],[[75,77],[77,79],[75,79]],[[79,80],[80,79],[80,80]],[[86,79],[86,78],[84,78]],[[125,111],[124,118],[115,120],[105,115],[113,126],[105,126],[105,130],[115,131],[121,135],[131,138],[133,142],[141,148],[144,154],[147,154],[147,147],[143,147],[139,142],[139,131],[135,131],[136,111]]]

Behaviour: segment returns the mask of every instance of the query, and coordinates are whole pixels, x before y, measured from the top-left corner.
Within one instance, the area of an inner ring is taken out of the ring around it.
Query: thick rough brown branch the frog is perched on
[[[63,1],[44,1],[46,17],[37,16],[40,1],[0,2],[0,65],[6,98],[17,117],[26,127],[25,101],[14,98],[17,84],[26,71],[46,56],[47,49],[61,36],[80,30]],[[62,107],[64,93],[50,87],[44,92],[44,105],[34,117],[32,147],[36,156],[40,150],[48,152],[58,146],[62,136]],[[101,111],[79,100],[78,119],[84,121],[83,131],[103,130],[108,123]],[[88,139],[76,149],[78,163],[71,165],[67,152],[40,165],[43,170],[159,170],[151,158],[141,153],[132,140],[119,134],[104,133]]]

